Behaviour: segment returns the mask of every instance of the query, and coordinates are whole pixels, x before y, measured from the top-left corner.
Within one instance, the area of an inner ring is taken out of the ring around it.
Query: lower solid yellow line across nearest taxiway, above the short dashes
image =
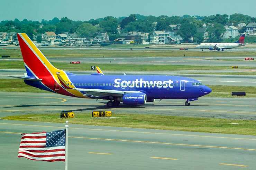
[[[15,133],[15,132],[2,132],[2,131],[1,131],[1,133],[21,134],[21,133]],[[167,145],[176,145],[176,146],[205,147],[205,148],[219,148],[219,149],[239,149],[239,150],[256,151],[256,149],[248,149],[248,148],[232,148],[232,147],[220,147],[220,146],[209,146],[209,145],[198,145],[198,144],[150,142],[150,141],[123,140],[123,139],[105,139],[105,138],[89,138],[89,137],[76,137],[76,136],[69,136],[68,138],[92,139],[92,140],[107,140],[107,141],[119,141],[119,142],[134,142],[134,143],[167,144]]]

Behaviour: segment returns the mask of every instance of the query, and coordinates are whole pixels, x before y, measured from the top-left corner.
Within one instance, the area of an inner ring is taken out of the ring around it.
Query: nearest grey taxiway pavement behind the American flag
[[[64,124],[0,120],[1,169],[64,169],[64,162],[17,158],[20,133],[60,129]],[[256,169],[255,136],[74,124],[68,134],[70,170]]]

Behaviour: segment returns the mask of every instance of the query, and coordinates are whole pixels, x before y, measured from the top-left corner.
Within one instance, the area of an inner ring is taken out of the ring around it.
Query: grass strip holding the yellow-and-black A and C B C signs
[[[232,133],[256,135],[256,121],[230,120],[213,118],[191,118],[180,116],[162,116],[154,114],[115,114],[112,119],[91,118],[90,112],[75,113],[75,118],[68,119],[73,124],[88,124],[97,126],[132,127],[147,129],[166,129],[193,132]],[[63,123],[60,113],[56,114],[26,114],[8,116],[2,119],[25,120]],[[241,124],[231,124],[241,123]]]

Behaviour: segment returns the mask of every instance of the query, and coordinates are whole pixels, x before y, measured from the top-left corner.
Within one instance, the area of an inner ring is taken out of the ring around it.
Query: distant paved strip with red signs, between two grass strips
[[[245,57],[81,57],[81,58],[49,58],[50,62],[80,61],[82,63],[109,64],[172,64],[195,66],[248,66],[255,67],[256,60],[245,61]],[[254,57],[254,56],[248,56]],[[0,61],[16,61],[17,59],[0,59]]]

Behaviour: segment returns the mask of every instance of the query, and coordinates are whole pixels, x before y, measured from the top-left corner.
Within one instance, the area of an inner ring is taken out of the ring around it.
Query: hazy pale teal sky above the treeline
[[[131,13],[145,16],[243,13],[256,17],[255,0],[1,0],[0,4],[0,21],[15,18],[41,21],[54,17],[85,21]]]

